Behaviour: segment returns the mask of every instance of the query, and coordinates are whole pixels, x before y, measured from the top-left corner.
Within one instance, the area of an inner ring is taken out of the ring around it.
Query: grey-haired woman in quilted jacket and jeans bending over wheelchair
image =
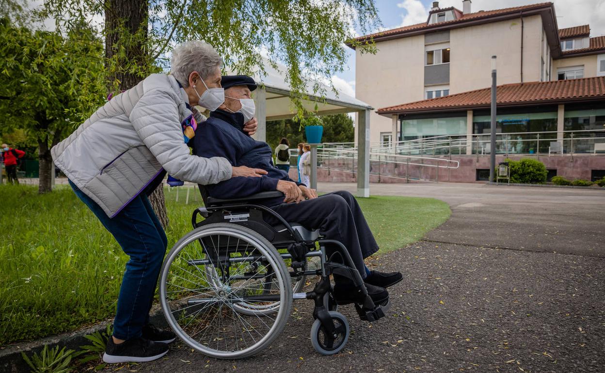
[[[211,45],[186,42],[172,54],[171,74],[152,74],[99,108],[52,150],[70,186],[130,256],[117,299],[113,337],[103,361],[149,362],[168,352],[174,333],[149,324],[167,239],[147,196],[168,174],[217,184],[266,171],[232,167],[220,157],[189,154],[181,125],[203,120],[194,105],[223,104],[222,60]],[[256,130],[256,120],[247,132]],[[212,138],[204,139],[212,141]]]

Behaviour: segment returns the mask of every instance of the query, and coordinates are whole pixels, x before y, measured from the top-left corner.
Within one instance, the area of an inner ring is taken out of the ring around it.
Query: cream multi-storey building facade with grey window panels
[[[378,48],[376,54],[356,54],[356,97],[379,108],[371,117],[372,144],[450,135],[480,138],[489,131],[489,108],[448,112],[428,105],[414,112],[402,107],[443,102],[443,97],[490,87],[491,56],[497,56],[499,86],[605,76],[605,36],[590,37],[589,25],[560,30],[552,3],[476,12],[471,11],[471,0],[461,5],[463,10],[439,8],[433,2],[422,24],[359,38],[373,40]],[[555,101],[545,99],[538,105],[529,100],[504,111],[499,108],[499,132],[525,137],[519,132],[550,131],[556,140],[566,135],[567,122],[574,129],[603,129],[602,100]],[[399,111],[388,110],[396,106]],[[531,154],[525,142],[506,145],[506,151]],[[466,154],[480,151],[485,153],[485,147],[465,145]]]

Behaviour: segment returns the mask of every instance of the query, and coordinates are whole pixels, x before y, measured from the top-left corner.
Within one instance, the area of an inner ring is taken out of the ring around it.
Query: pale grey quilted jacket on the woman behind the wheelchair
[[[231,178],[225,158],[189,154],[180,125],[191,114],[185,100],[174,77],[152,74],[97,109],[54,146],[54,163],[111,218],[162,169],[198,184]]]

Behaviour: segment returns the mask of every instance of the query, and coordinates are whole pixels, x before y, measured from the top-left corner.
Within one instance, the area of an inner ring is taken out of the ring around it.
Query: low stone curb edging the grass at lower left
[[[160,328],[168,326],[164,314],[162,313],[162,308],[159,305],[152,308],[151,313],[149,314],[149,320]],[[21,352],[25,352],[28,356],[31,356],[34,352],[39,354],[40,351],[42,351],[42,348],[44,348],[44,345],[48,345],[50,348],[54,348],[54,346],[63,348],[65,346],[67,349],[78,351],[80,346],[90,344],[90,341],[85,339],[84,336],[96,331],[104,331],[105,328],[107,328],[107,325],[112,322],[113,319],[108,319],[88,326],[87,328],[59,334],[57,336],[44,337],[30,342],[18,342],[13,345],[2,346],[3,349],[0,349],[0,372],[30,373],[31,368],[25,363],[25,360],[23,360]]]

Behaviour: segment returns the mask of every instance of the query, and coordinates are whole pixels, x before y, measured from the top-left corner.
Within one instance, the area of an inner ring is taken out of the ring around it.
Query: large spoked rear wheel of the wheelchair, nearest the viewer
[[[168,324],[189,346],[216,358],[243,358],[267,348],[286,325],[290,273],[275,247],[253,230],[208,224],[181,238],[166,256],[160,301]],[[270,315],[235,307],[274,303]]]

